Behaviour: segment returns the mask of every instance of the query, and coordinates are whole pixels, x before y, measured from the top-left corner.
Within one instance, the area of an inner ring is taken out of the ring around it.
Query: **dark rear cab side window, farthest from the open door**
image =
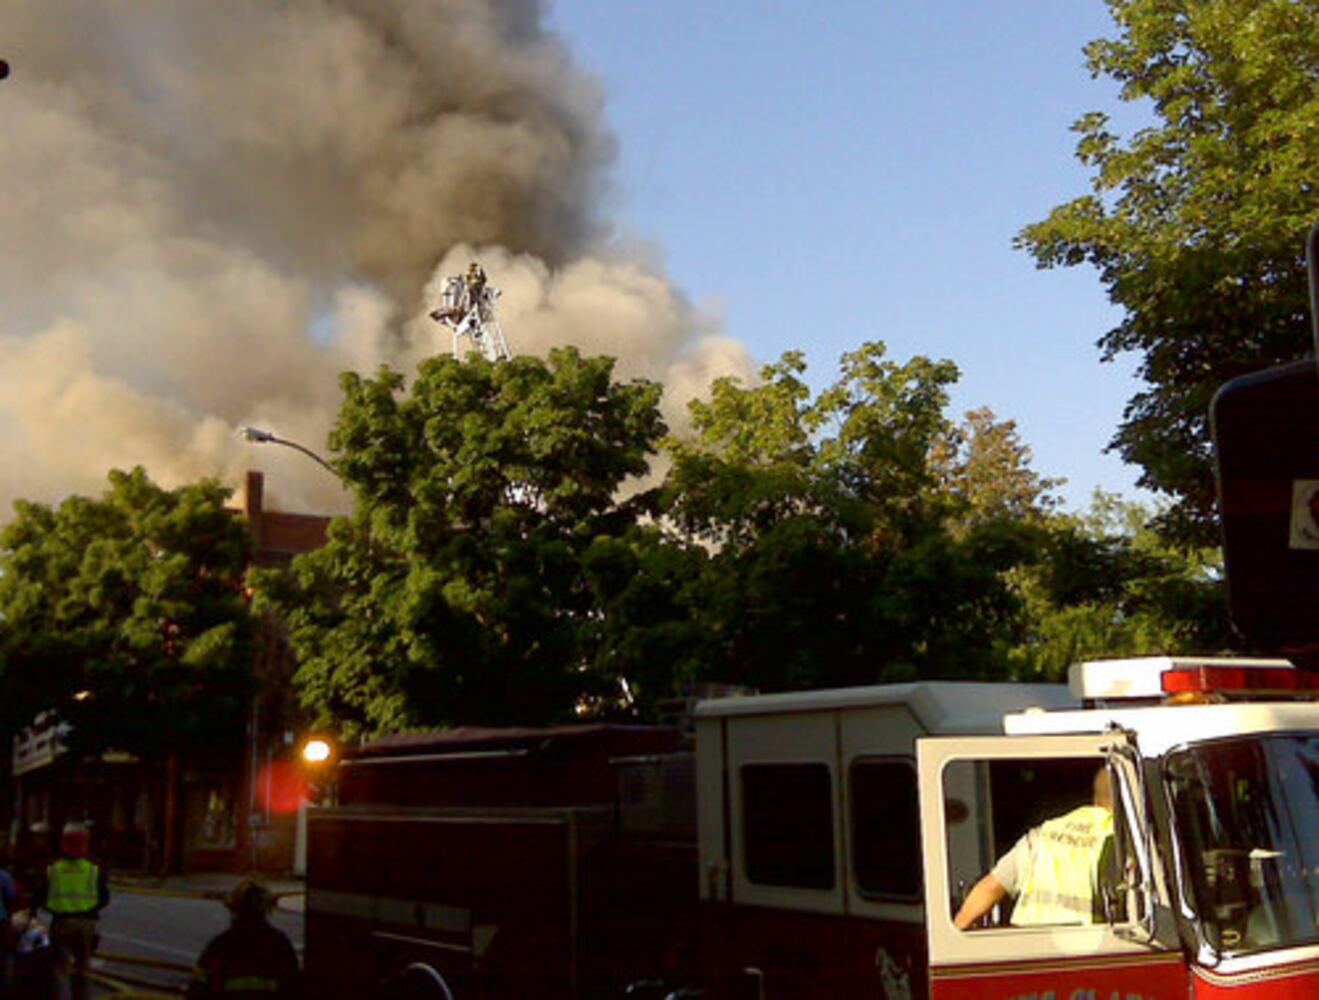
[[[760,885],[834,888],[834,806],[824,764],[741,768],[747,879]]]

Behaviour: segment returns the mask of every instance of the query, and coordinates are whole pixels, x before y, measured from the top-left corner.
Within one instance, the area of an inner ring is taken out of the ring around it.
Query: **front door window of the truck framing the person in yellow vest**
[[[1112,821],[1093,809],[1103,766],[1101,757],[950,763],[943,794],[951,914],[975,897],[971,909],[983,916],[972,929],[1103,920],[1115,864]],[[983,881],[991,872],[1006,893],[983,910],[975,904],[984,901],[981,889],[995,888]]]

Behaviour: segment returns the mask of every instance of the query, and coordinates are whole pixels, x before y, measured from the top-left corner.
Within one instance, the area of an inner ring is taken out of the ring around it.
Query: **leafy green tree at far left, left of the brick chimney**
[[[248,534],[212,480],[162,489],[142,468],[96,499],[18,501],[0,532],[3,714],[54,710],[87,751],[160,755],[243,718]]]

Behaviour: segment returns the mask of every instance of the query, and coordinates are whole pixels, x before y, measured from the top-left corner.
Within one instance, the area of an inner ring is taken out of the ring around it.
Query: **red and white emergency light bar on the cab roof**
[[[1096,701],[1161,701],[1170,694],[1319,690],[1319,677],[1287,660],[1145,656],[1072,664],[1067,686],[1074,697]]]

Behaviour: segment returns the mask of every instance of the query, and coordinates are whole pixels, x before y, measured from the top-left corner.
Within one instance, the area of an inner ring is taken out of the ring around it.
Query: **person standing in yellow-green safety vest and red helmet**
[[[96,921],[109,904],[106,869],[87,858],[90,847],[86,826],[65,826],[59,858],[46,868],[42,902],[50,912],[58,995],[75,1000],[87,996],[87,966],[96,949]]]

